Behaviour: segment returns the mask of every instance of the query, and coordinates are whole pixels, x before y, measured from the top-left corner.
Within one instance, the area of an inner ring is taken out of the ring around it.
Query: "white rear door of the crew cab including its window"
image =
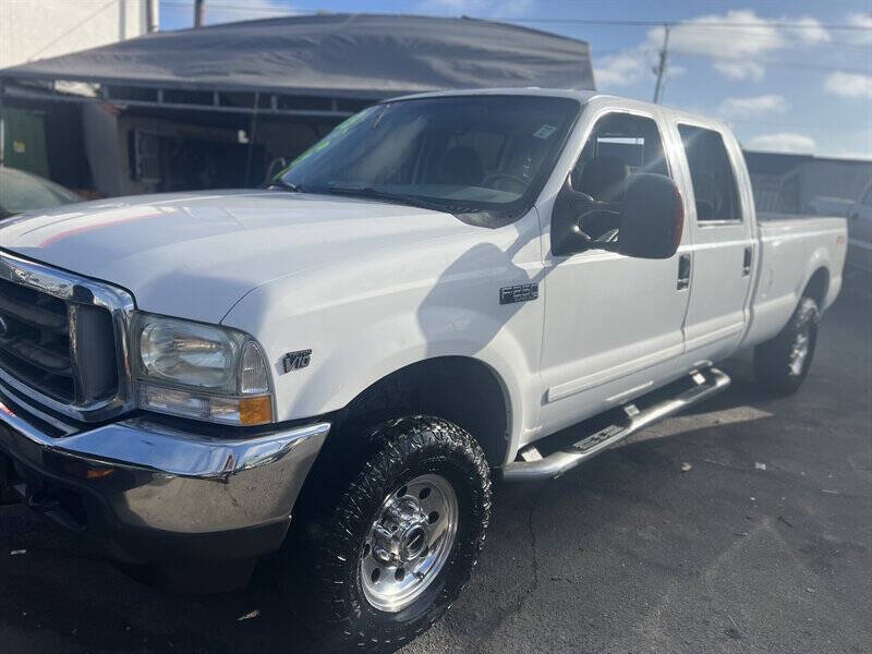
[[[744,170],[738,144],[703,125],[678,121],[675,129],[692,194],[693,244],[681,254],[690,270],[682,367],[697,367],[728,356],[743,337],[758,240],[751,194],[737,179],[737,170]]]

